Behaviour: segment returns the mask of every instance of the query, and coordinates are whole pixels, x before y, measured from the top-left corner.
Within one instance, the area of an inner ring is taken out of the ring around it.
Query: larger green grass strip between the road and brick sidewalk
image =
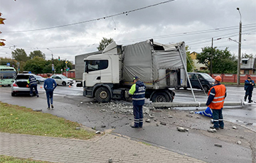
[[[76,130],[79,123],[53,116],[50,113],[33,111],[31,108],[14,106],[0,101],[0,132],[48,137],[88,140],[94,132]]]

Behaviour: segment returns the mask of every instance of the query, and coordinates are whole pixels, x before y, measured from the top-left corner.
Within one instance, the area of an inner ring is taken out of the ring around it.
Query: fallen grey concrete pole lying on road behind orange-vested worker
[[[172,107],[201,107],[206,103],[199,102],[172,102],[172,103],[152,103],[155,108],[172,108]],[[225,101],[224,106],[242,106],[241,102]]]

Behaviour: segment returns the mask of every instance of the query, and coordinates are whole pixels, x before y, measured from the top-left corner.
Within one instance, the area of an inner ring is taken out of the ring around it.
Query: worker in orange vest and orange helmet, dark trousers
[[[206,106],[213,110],[213,126],[210,126],[210,128],[215,128],[216,130],[219,128],[224,129],[222,110],[224,99],[227,96],[226,88],[223,84],[220,84],[220,81],[220,76],[215,77],[215,84],[210,88],[206,102]]]

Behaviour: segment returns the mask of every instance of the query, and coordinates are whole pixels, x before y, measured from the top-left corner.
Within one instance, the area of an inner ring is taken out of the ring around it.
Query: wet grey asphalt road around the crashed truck
[[[202,117],[201,124],[195,125],[197,121],[189,121],[185,118],[179,119],[174,114],[176,110],[183,110],[184,113],[187,110],[195,111],[196,109],[204,110],[205,108],[171,108],[164,110],[153,111],[156,122],[160,120],[166,120],[167,114],[173,114],[176,118],[176,124],[174,120],[169,120],[167,125],[155,125],[155,123],[144,123],[144,128],[133,129],[130,128],[132,124],[133,116],[129,113],[117,113],[111,108],[118,108],[119,103],[125,103],[129,108],[132,106],[131,102],[115,102],[105,105],[96,103],[94,99],[88,99],[82,96],[82,88],[75,86],[58,86],[54,91],[54,106],[55,109],[48,111],[46,104],[46,94],[41,88],[41,84],[38,85],[39,98],[30,96],[11,96],[10,87],[1,87],[0,101],[5,103],[11,103],[19,106],[26,106],[28,108],[42,109],[44,113],[51,113],[55,116],[63,117],[68,120],[73,120],[82,125],[96,130],[115,129],[112,133],[119,135],[127,135],[135,140],[141,140],[148,142],[149,144],[164,147],[168,150],[186,154],[197,159],[201,159],[206,162],[252,162],[252,154],[255,153],[250,145],[237,145],[235,142],[230,142],[225,139],[220,139],[221,135],[209,135],[205,132],[211,125],[210,119]],[[227,86],[228,96],[226,101],[240,101],[243,99],[244,91],[242,87]],[[202,103],[206,102],[207,96],[200,90],[194,90],[196,100]],[[254,94],[255,95],[255,94]],[[253,95],[253,96],[254,96]],[[255,95],[256,97],[256,95]],[[176,97],[174,101],[194,101],[191,91],[178,90],[176,91]],[[117,103],[117,104],[116,104]],[[150,106],[150,101],[147,101],[146,106]],[[108,106],[107,108],[105,106]],[[123,107],[123,106],[122,106]],[[223,110],[224,120],[241,125],[250,130],[255,130],[256,126],[256,105],[251,106],[237,106],[225,107]],[[145,119],[148,115],[145,115]],[[197,119],[196,119],[197,120]],[[195,125],[191,127],[188,133],[179,133],[176,130],[178,124],[191,123]],[[249,124],[249,125],[248,125]],[[105,125],[105,128],[102,128]],[[227,125],[230,125],[229,123]],[[226,126],[226,125],[225,125]],[[220,130],[220,134],[227,132],[227,130]],[[256,130],[255,130],[256,131]],[[250,132],[250,131],[249,131]],[[243,135],[241,135],[243,134]],[[255,132],[250,133],[238,133],[238,136],[252,135],[256,137]],[[236,136],[235,136],[236,137]],[[249,138],[250,139],[250,138]],[[223,145],[223,147],[214,147],[215,143]]]

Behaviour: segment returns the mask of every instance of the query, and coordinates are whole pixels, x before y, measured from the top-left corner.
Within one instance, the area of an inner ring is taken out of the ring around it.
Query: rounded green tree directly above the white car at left
[[[24,66],[24,70],[31,71],[34,74],[43,73],[43,68],[46,66],[46,60],[42,57],[33,57],[33,59],[28,60]]]

